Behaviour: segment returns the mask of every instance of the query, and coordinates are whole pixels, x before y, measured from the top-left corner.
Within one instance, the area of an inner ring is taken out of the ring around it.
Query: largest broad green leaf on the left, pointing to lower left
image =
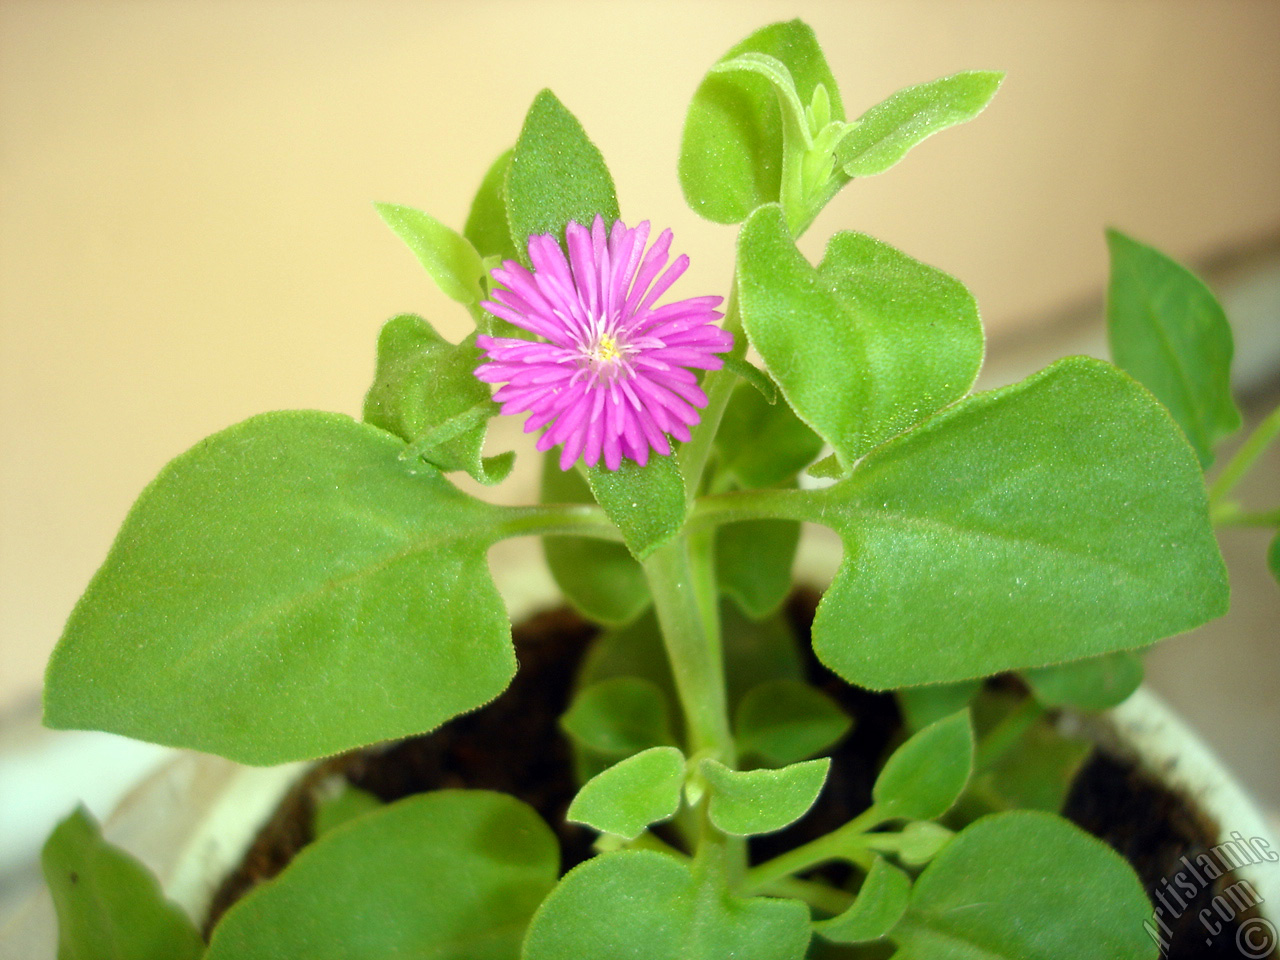
[[[273,764],[500,694],[516,658],[485,554],[503,513],[403,451],[288,411],[169,463],[72,612],[45,723]]]

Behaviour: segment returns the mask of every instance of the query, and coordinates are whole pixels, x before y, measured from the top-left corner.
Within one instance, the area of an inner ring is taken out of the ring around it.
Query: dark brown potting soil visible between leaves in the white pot
[[[801,640],[808,640],[817,603],[817,594],[800,591],[787,604],[787,618]],[[334,776],[387,803],[458,787],[511,794],[538,810],[557,832],[563,870],[591,856],[595,833],[564,820],[579,785],[558,719],[568,707],[579,664],[595,634],[595,627],[566,609],[532,617],[513,630],[520,671],[493,703],[431,733],[320,764],[289,792],[241,865],[223,882],[210,905],[205,936],[237,900],[276,876],[311,842],[312,795],[319,783]],[[801,644],[801,650],[810,682],[835,698],[856,723],[831,753],[832,771],[840,776],[828,778],[818,803],[801,820],[753,838],[753,861],[805,844],[864,810],[870,804],[879,763],[900,737],[901,716],[892,695],[852,687],[823,667],[808,643]],[[1167,943],[1164,957],[1225,960],[1244,955],[1235,945],[1236,929],[1258,914],[1256,906],[1238,908],[1248,893],[1242,895],[1236,887],[1233,895],[1230,888],[1238,883],[1233,874],[1211,883],[1192,883],[1194,896],[1185,886],[1172,887],[1176,899],[1170,893],[1175,874],[1183,870],[1187,876],[1179,858],[1196,863],[1216,842],[1219,824],[1133,763],[1101,751],[1094,751],[1078,776],[1064,815],[1117,850],[1142,878],[1148,899],[1166,906],[1161,915],[1165,927],[1155,927]],[[842,883],[849,868],[828,865],[819,873]],[[1215,897],[1221,899],[1224,892],[1226,908],[1215,913]],[[1222,914],[1231,919],[1222,919]],[[1217,923],[1221,925],[1213,933],[1212,924]]]

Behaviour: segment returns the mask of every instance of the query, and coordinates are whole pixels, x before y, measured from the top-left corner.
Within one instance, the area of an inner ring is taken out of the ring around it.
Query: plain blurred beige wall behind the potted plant
[[[540,87],[604,151],[623,216],[692,255],[684,296],[722,289],[732,232],[675,179],[684,109],[724,49],[795,14],[851,114],[1009,72],[809,247],[858,228],[950,270],[997,351],[1101,289],[1107,223],[1188,259],[1280,224],[1274,3],[0,0],[0,714],[168,458],[268,408],[357,412],[396,312],[462,334],[370,201],[460,225]]]

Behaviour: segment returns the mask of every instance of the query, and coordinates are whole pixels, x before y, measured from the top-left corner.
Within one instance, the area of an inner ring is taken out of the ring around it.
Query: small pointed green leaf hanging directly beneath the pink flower
[[[617,470],[586,468],[591,494],[622,532],[631,556],[643,561],[685,525],[689,503],[675,457],[654,454],[645,466],[623,460]]]

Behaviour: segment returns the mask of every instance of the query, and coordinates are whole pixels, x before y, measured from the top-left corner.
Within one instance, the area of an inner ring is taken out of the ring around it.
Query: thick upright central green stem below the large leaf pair
[[[707,573],[695,570],[685,536],[654,550],[644,571],[689,727],[689,754],[732,764],[719,617],[707,600]]]

